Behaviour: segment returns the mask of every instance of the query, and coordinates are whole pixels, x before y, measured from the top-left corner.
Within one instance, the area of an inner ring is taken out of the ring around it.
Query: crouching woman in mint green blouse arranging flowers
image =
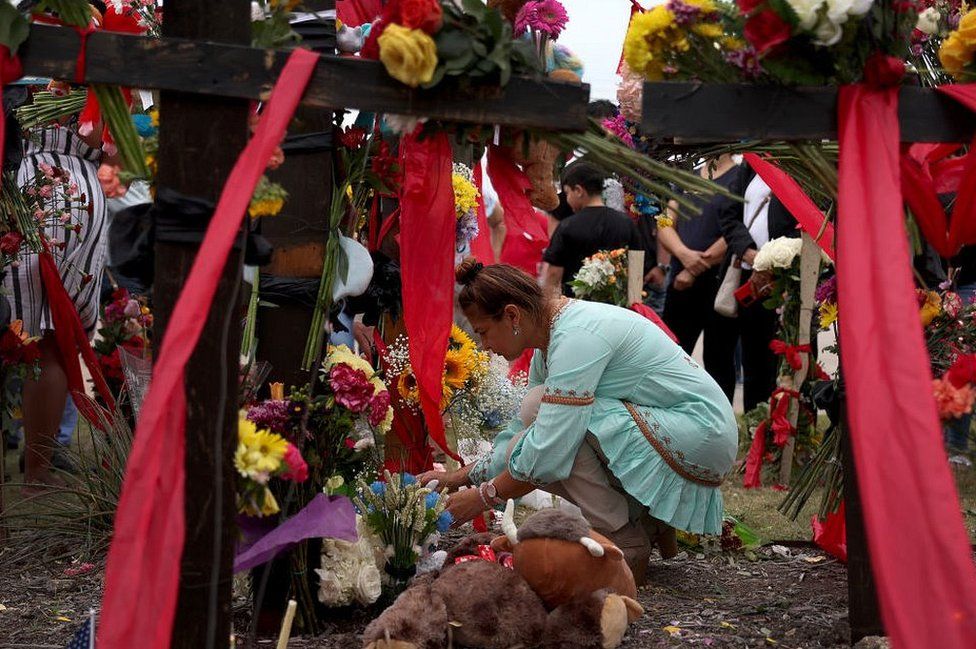
[[[421,477],[451,490],[477,487],[450,497],[456,520],[535,488],[568,493],[640,574],[660,522],[721,531],[719,485],[738,430],[731,404],[698,363],[643,316],[546,297],[511,266],[469,259],[457,277],[459,304],[482,345],[509,360],[534,348],[529,387],[544,392],[534,422],[523,430],[513,421],[490,456]]]

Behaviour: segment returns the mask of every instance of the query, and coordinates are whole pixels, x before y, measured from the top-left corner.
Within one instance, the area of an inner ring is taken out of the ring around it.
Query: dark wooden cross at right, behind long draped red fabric
[[[650,137],[681,137],[687,142],[836,140],[837,94],[834,87],[647,83],[642,128]],[[898,117],[901,139],[906,142],[968,142],[976,130],[970,111],[930,88],[902,87]],[[807,286],[806,292],[811,291]],[[842,413],[846,421],[846,406]],[[847,503],[848,617],[854,643],[865,636],[884,635],[884,627],[849,434],[844,435],[842,464]]]

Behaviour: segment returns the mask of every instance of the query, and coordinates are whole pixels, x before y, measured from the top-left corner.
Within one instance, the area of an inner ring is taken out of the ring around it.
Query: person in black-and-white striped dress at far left
[[[93,133],[82,137],[62,125],[32,131],[25,137],[24,157],[17,171],[17,182],[23,187],[33,180],[38,169],[46,165],[59,167],[77,185],[78,196],[84,197],[72,205],[63,219],[47,219],[44,234],[57,245],[52,253],[61,280],[89,337],[98,319],[98,287],[107,249],[105,195],[98,182],[102,151],[97,134],[101,127]],[[76,225],[78,230],[74,229]],[[62,482],[51,472],[51,454],[67,398],[67,378],[54,340],[54,322],[41,283],[38,255],[22,250],[20,263],[7,269],[3,288],[13,318],[23,320],[24,329],[31,335],[41,337],[41,372],[37,380],[24,381],[22,395],[24,478],[29,485],[25,491],[30,492]]]

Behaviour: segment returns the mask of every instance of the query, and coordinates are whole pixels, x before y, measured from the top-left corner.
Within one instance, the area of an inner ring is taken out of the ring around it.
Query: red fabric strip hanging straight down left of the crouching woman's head
[[[400,265],[403,318],[410,366],[420,388],[420,407],[430,437],[455,460],[447,445],[441,396],[444,359],[454,320],[454,238],[456,217],[451,185],[453,154],[443,132],[400,142]]]

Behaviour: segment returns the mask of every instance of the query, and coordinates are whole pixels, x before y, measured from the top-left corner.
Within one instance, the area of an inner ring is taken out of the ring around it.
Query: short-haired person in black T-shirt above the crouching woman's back
[[[574,162],[563,172],[566,202],[575,212],[559,222],[542,259],[549,264],[546,286],[573,295],[570,282],[583,260],[600,250],[643,250],[637,226],[626,214],[603,204],[606,176],[586,162]]]

